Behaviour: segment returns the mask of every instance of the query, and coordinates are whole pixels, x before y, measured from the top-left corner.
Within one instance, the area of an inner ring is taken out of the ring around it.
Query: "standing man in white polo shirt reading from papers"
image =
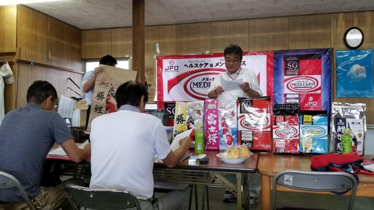
[[[213,85],[208,90],[208,97],[218,100],[236,100],[238,97],[259,97],[262,96],[260,85],[256,74],[250,69],[241,68],[243,51],[238,45],[229,45],[224,49],[225,67],[227,71],[218,74]],[[221,87],[221,77],[225,80],[232,81],[243,79],[243,83],[238,86],[237,90],[225,91]],[[255,207],[258,202],[258,195],[261,190],[260,177],[256,174],[248,174],[250,179],[250,207]],[[230,191],[226,191],[223,195],[226,202],[234,201],[234,195]]]

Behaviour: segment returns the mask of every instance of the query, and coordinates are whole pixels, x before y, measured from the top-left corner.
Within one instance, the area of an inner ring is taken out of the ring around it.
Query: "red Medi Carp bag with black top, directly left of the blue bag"
[[[273,105],[273,152],[299,153],[299,104]]]

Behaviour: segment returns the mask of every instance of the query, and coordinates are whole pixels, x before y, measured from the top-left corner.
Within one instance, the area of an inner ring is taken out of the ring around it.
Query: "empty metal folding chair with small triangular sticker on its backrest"
[[[355,177],[345,172],[285,170],[279,172],[273,179],[272,209],[306,209],[292,207],[276,208],[277,184],[304,191],[342,192],[352,189],[348,209],[352,209],[353,207],[357,190],[357,181]]]

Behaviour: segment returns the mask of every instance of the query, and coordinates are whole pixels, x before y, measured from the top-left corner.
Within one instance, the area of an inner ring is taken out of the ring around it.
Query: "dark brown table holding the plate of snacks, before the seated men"
[[[256,173],[258,153],[253,153],[242,163],[227,164],[216,156],[219,152],[205,151],[206,157],[209,158],[207,164],[199,164],[198,161],[189,162],[188,159],[185,159],[170,169],[163,163],[154,163],[154,181],[224,186],[237,195],[238,210],[242,209],[243,201],[244,209],[249,209],[250,197],[248,195],[247,173]],[[91,177],[91,162],[89,160],[81,163],[61,160],[61,163],[64,167],[63,174],[66,176]],[[231,183],[221,173],[236,175],[236,183]]]

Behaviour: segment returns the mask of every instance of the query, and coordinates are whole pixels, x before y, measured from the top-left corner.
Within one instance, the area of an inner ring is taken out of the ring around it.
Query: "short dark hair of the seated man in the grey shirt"
[[[27,102],[41,103],[49,96],[57,100],[56,89],[48,81],[37,80],[27,90],[26,99]]]

